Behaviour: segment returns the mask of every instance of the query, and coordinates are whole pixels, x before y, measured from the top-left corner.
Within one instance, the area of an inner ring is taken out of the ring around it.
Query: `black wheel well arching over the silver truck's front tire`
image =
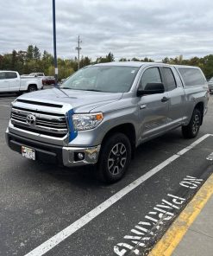
[[[109,138],[113,133],[116,132],[121,132],[123,134],[125,134],[128,139],[129,142],[131,144],[132,147],[132,157],[134,157],[135,155],[135,142],[136,142],[136,136],[135,136],[135,127],[134,125],[127,123],[127,124],[122,124],[122,125],[117,125],[116,127],[113,127],[110,131],[108,131],[104,138],[103,138],[103,143],[104,141],[107,140],[107,138]]]

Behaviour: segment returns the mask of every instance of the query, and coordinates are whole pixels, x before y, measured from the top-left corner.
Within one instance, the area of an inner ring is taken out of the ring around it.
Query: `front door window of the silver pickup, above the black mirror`
[[[148,68],[141,77],[141,89],[145,89],[149,83],[162,83],[158,67]]]

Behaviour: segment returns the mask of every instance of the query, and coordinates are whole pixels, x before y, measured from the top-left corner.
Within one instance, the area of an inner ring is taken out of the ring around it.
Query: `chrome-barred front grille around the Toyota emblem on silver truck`
[[[33,115],[34,120],[29,122],[28,115]],[[63,138],[68,129],[66,117],[63,114],[41,111],[28,111],[27,109],[13,107],[11,111],[11,123],[19,129],[32,131],[39,134]]]

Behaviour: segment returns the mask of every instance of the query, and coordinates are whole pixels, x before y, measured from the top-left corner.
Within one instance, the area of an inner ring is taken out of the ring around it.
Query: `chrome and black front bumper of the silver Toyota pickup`
[[[11,150],[22,154],[22,146],[35,150],[35,159],[45,163],[60,164],[68,167],[97,163],[100,145],[86,148],[63,147],[41,143],[29,138],[22,138],[8,130],[5,133],[7,144]],[[83,156],[78,157],[78,153]]]

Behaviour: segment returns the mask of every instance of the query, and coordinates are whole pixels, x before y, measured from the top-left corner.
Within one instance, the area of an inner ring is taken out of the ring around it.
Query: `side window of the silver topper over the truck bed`
[[[204,75],[197,68],[179,68],[179,73],[185,82],[185,86],[204,85],[206,82]]]

